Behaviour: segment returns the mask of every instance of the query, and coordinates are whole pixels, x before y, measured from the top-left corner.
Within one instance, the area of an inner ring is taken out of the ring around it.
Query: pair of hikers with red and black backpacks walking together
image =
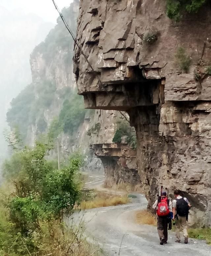
[[[157,210],[157,229],[160,238],[160,244],[167,243],[168,240],[168,223],[171,224],[171,218],[176,225],[176,241],[180,242],[180,228],[183,231],[185,243],[188,243],[187,220],[189,208],[191,207],[187,198],[180,196],[179,190],[174,191],[176,199],[173,203],[167,198],[166,192],[162,192],[155,201],[152,208]],[[171,225],[169,226],[171,229]]]

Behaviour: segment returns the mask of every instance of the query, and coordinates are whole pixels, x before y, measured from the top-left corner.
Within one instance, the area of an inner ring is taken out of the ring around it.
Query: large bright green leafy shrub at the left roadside
[[[15,184],[15,194],[9,202],[10,218],[21,234],[38,228],[39,219],[62,220],[78,197],[74,175],[81,165],[80,159],[72,158],[67,167],[58,171],[45,160],[49,150],[47,145],[38,143],[33,149],[25,147],[15,154],[11,164],[4,165],[5,173],[14,177]],[[18,169],[14,176],[11,167],[16,159]]]

